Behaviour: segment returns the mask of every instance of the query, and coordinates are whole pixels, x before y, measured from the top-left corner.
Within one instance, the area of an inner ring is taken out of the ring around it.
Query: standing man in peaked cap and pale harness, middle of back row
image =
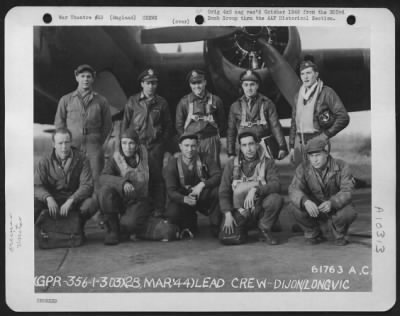
[[[176,130],[196,134],[200,140],[199,151],[220,162],[220,136],[225,134],[226,117],[222,100],[207,91],[207,80],[202,70],[194,69],[187,75],[192,92],[185,95],[176,108]]]

